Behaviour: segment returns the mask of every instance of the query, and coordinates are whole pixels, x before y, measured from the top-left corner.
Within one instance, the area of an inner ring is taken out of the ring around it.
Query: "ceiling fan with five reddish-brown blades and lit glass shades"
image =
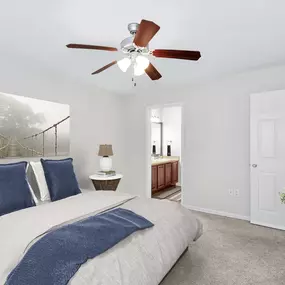
[[[149,49],[149,42],[159,31],[160,27],[154,22],[142,20],[140,24],[131,23],[128,25],[128,30],[131,36],[121,42],[121,51],[125,57],[119,61],[113,61],[102,68],[96,70],[92,74],[98,74],[109,67],[117,64],[119,68],[126,72],[133,65],[133,75],[140,76],[146,73],[151,80],[158,80],[162,76],[158,70],[150,63],[148,56],[152,55],[161,58],[174,58],[183,60],[197,61],[201,57],[199,51],[189,50],[169,50],[169,49]],[[118,51],[117,48],[107,46],[68,44],[68,48],[77,49],[94,49],[104,51]],[[134,81],[134,78],[133,78]]]

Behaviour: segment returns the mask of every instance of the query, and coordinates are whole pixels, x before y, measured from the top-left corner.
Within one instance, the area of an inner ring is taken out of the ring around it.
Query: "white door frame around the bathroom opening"
[[[152,109],[159,109],[159,108],[166,108],[166,107],[181,107],[181,157],[180,157],[180,177],[181,177],[181,204],[184,201],[184,155],[185,155],[185,112],[184,112],[184,103],[176,102],[176,103],[161,103],[156,105],[150,105],[146,107],[146,117],[145,117],[145,126],[146,126],[146,161],[145,161],[145,169],[146,169],[146,189],[145,194],[147,198],[151,198],[151,110]]]

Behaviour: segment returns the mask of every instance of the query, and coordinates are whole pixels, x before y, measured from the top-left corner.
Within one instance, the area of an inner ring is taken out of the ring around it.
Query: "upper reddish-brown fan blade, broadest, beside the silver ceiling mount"
[[[139,47],[146,47],[160,27],[154,22],[142,20],[136,33],[134,43]]]

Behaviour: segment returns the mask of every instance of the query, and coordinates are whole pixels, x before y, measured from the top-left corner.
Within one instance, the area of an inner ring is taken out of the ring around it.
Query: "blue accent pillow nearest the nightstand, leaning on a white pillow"
[[[73,159],[41,159],[51,201],[61,200],[81,191],[74,173]]]

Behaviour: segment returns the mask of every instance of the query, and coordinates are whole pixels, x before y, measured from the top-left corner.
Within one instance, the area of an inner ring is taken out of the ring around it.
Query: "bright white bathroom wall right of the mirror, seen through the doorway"
[[[171,155],[181,156],[181,107],[163,108],[163,153],[167,155],[167,142],[172,141]]]

